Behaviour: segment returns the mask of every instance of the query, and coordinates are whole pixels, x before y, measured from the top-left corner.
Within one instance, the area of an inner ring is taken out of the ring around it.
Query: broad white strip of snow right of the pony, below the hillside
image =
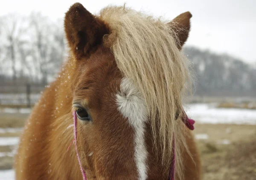
[[[256,110],[216,108],[215,104],[189,104],[184,106],[187,115],[196,123],[256,125]]]

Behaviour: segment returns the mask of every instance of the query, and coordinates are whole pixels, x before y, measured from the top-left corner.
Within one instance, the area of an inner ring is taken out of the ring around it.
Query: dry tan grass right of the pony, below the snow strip
[[[195,134],[208,134],[198,140],[204,180],[255,180],[256,126],[197,124]],[[229,145],[220,144],[229,140]]]

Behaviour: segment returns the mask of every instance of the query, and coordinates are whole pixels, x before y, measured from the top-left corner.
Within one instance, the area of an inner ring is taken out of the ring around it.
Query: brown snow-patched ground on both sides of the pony
[[[0,112],[0,141],[9,143],[20,134],[28,114]],[[6,127],[17,129],[4,130]],[[256,179],[256,125],[196,123],[194,130],[201,152],[204,180]],[[13,145],[0,142],[0,170],[13,166]],[[9,153],[6,153],[9,152]],[[6,171],[5,171],[6,172]],[[0,174],[1,179],[1,174]]]

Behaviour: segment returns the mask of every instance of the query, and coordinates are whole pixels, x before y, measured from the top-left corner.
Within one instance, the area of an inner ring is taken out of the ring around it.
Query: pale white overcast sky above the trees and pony
[[[52,20],[64,17],[73,0],[4,0],[0,15],[41,11]],[[256,0],[81,0],[93,14],[109,4],[147,11],[172,20],[185,11],[193,15],[187,45],[210,49],[256,63]]]

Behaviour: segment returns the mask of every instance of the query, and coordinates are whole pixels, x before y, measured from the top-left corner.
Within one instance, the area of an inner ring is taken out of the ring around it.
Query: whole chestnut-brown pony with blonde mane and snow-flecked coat
[[[167,180],[174,154],[175,180],[201,179],[182,121],[189,70],[180,50],[191,17],[168,23],[125,7],[96,16],[71,6],[64,20],[70,58],[26,122],[17,180],[81,180],[79,160],[88,180]],[[67,150],[73,112],[77,149]]]

